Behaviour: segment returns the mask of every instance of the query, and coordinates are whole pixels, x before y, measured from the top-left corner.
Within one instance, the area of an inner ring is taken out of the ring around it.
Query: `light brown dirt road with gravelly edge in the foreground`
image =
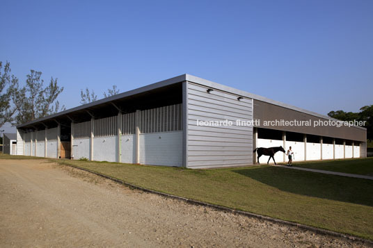
[[[46,160],[0,160],[0,247],[362,247],[130,190]]]

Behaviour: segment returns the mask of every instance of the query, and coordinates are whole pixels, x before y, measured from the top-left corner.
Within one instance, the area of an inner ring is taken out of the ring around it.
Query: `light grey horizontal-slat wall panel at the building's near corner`
[[[253,163],[253,127],[236,120],[253,119],[252,99],[187,83],[187,167],[228,167]],[[233,126],[198,126],[197,120],[223,121]]]

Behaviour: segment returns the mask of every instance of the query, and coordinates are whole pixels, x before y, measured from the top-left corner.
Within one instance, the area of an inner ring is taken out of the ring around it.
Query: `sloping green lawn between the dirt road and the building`
[[[268,165],[189,170],[77,160],[54,161],[100,172],[159,192],[373,240],[373,181],[366,179]],[[365,160],[360,159],[360,162],[365,163]]]

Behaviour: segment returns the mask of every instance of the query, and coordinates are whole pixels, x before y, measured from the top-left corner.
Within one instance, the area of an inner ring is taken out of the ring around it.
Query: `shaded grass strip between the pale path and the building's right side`
[[[296,167],[373,176],[373,158],[294,163]]]

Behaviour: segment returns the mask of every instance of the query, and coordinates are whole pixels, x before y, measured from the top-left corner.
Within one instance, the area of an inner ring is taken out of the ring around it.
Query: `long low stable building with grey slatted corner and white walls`
[[[296,161],[366,157],[360,126],[266,125],[294,119],[335,120],[184,74],[21,124],[17,154],[189,168],[251,165],[255,147],[280,145],[293,147]]]

